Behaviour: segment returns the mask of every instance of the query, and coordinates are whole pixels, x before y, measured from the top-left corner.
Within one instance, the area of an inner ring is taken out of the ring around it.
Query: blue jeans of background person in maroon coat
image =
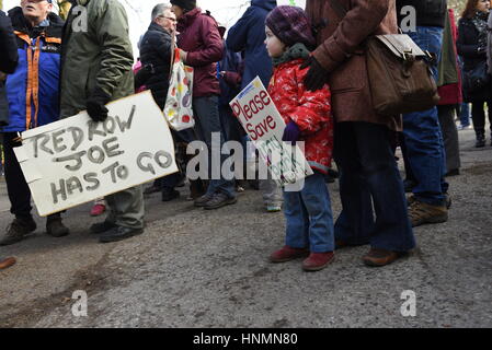
[[[224,147],[224,131],[220,125],[219,117],[219,97],[218,96],[208,96],[208,97],[195,97],[193,98],[193,112],[196,115],[197,129],[199,132],[199,138],[207,144],[208,148],[208,164],[211,167],[211,156],[213,152],[219,152],[220,154],[220,167],[227,155],[221,154],[221,150],[213,149],[211,147],[211,133],[220,135],[220,149]],[[211,168],[209,168],[209,179],[210,183],[208,185],[207,195],[213,195],[215,192],[222,192],[227,195],[229,198],[236,197],[236,184],[234,180],[227,180],[222,178],[221,170],[218,170],[220,173],[220,179],[211,179]]]

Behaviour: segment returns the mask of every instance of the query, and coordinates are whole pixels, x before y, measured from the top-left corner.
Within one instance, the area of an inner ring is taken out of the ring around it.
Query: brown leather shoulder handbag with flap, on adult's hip
[[[346,9],[329,0],[343,19]],[[366,43],[366,63],[373,105],[380,115],[394,116],[434,107],[437,84],[430,62],[434,59],[405,34],[373,35]]]

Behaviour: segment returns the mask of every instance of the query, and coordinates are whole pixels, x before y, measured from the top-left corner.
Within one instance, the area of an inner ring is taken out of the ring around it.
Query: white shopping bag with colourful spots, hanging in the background
[[[174,50],[174,65],[171,72],[164,115],[171,128],[176,131],[193,128],[193,68],[180,59],[180,49]]]

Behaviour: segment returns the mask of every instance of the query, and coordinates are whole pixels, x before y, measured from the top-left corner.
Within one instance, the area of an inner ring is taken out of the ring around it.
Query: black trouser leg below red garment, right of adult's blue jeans
[[[455,105],[443,105],[437,107],[439,125],[443,131],[444,145],[446,148],[446,174],[459,171],[461,161],[459,156],[458,129],[455,122]]]

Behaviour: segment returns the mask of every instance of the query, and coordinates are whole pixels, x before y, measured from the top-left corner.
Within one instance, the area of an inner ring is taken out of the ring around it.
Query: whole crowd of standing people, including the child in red
[[[271,176],[252,183],[263,194],[265,210],[283,208],[286,218],[285,246],[270,256],[272,262],[306,257],[302,268],[318,271],[333,261],[335,249],[354,245],[370,245],[363,257],[368,266],[393,262],[415,247],[412,228],[448,220],[446,177],[459,175],[458,129],[470,125],[469,103],[476,145],[485,145],[484,104],[492,106],[489,0],[468,0],[458,28],[446,0],[307,0],[306,10],[252,0],[229,30],[196,1],[171,0],[150,14],[135,67],[124,7],[117,0],[70,2],[65,21],[52,12],[52,0],[21,0],[8,15],[0,11],[0,124],[14,215],[0,245],[18,243],[36,230],[31,192],[13,152],[22,144],[21,132],[82,110],[93,121],[104,121],[107,103],[145,90],[163,109],[175,47],[194,68],[196,120],[193,129],[172,130],[176,150],[193,140],[213,150],[217,133],[220,148],[229,140],[245,144],[247,133],[229,102],[255,77],[286,124],[283,141],[305,142],[313,175],[302,189],[287,191]],[[373,106],[364,43],[373,35],[398,33],[402,9],[409,5],[415,9],[415,27],[405,34],[431,52],[440,101],[427,110],[384,116]],[[75,30],[81,7],[84,31]],[[190,159],[186,152],[176,156],[182,164]],[[325,184],[334,173],[332,159],[342,201],[336,220]],[[225,161],[221,154],[220,167]],[[90,231],[101,243],[141,234],[145,194],[159,191],[163,201],[175,200],[184,170],[146,190],[138,186],[99,199],[91,213],[107,211],[107,217]],[[234,205],[243,187],[224,175],[190,180],[194,205],[207,210]],[[61,213],[47,218],[46,232],[69,234]],[[0,269],[14,262],[0,259]]]

